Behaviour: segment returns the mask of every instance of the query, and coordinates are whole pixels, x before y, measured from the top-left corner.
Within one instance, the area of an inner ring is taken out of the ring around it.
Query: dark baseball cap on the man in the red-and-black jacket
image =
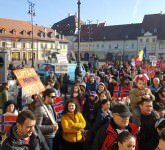
[[[112,106],[112,113],[118,113],[122,117],[132,116],[132,113],[130,112],[129,108],[121,103],[114,104]]]

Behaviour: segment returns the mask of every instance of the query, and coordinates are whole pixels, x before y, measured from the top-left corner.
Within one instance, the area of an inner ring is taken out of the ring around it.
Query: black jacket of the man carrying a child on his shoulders
[[[155,150],[158,145],[158,134],[155,129],[155,123],[159,119],[156,111],[152,111],[150,115],[142,115],[138,107],[134,108],[132,122],[140,126],[138,134],[140,150]]]

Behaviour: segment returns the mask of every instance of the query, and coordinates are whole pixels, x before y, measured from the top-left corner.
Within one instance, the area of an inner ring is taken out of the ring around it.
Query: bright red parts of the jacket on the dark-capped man
[[[129,123],[129,127],[131,128],[132,134],[136,137],[136,150],[138,150],[138,140],[137,140],[137,133],[139,131],[139,126]],[[111,147],[112,144],[115,142],[117,138],[117,133],[116,131],[112,128],[111,124],[109,124],[107,128],[107,136],[104,140],[103,146],[101,150],[105,150],[108,147]]]

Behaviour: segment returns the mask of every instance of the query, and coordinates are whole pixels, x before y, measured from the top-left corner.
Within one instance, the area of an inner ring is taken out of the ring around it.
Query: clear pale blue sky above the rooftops
[[[77,12],[77,0],[31,0],[34,23],[51,27]],[[1,0],[0,18],[30,21],[28,0]],[[165,13],[165,0],[81,0],[81,20],[107,25],[141,23],[145,14]]]

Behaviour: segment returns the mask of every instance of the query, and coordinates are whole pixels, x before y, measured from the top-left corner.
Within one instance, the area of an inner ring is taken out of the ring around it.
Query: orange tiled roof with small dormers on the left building
[[[2,34],[2,30],[5,30],[5,34]],[[0,18],[0,36],[1,37],[18,37],[22,39],[31,39],[32,32],[32,23],[29,21],[20,21],[20,20],[12,20],[12,19],[4,19]],[[13,31],[16,31],[16,35],[13,34]],[[23,32],[26,32],[23,35]],[[47,37],[41,37],[41,33],[45,35],[47,33]],[[33,37],[34,39],[40,40],[49,40],[49,41],[60,41],[57,38],[51,38],[51,34],[54,35],[54,30],[49,27],[33,25]],[[66,41],[65,41],[66,42]]]

